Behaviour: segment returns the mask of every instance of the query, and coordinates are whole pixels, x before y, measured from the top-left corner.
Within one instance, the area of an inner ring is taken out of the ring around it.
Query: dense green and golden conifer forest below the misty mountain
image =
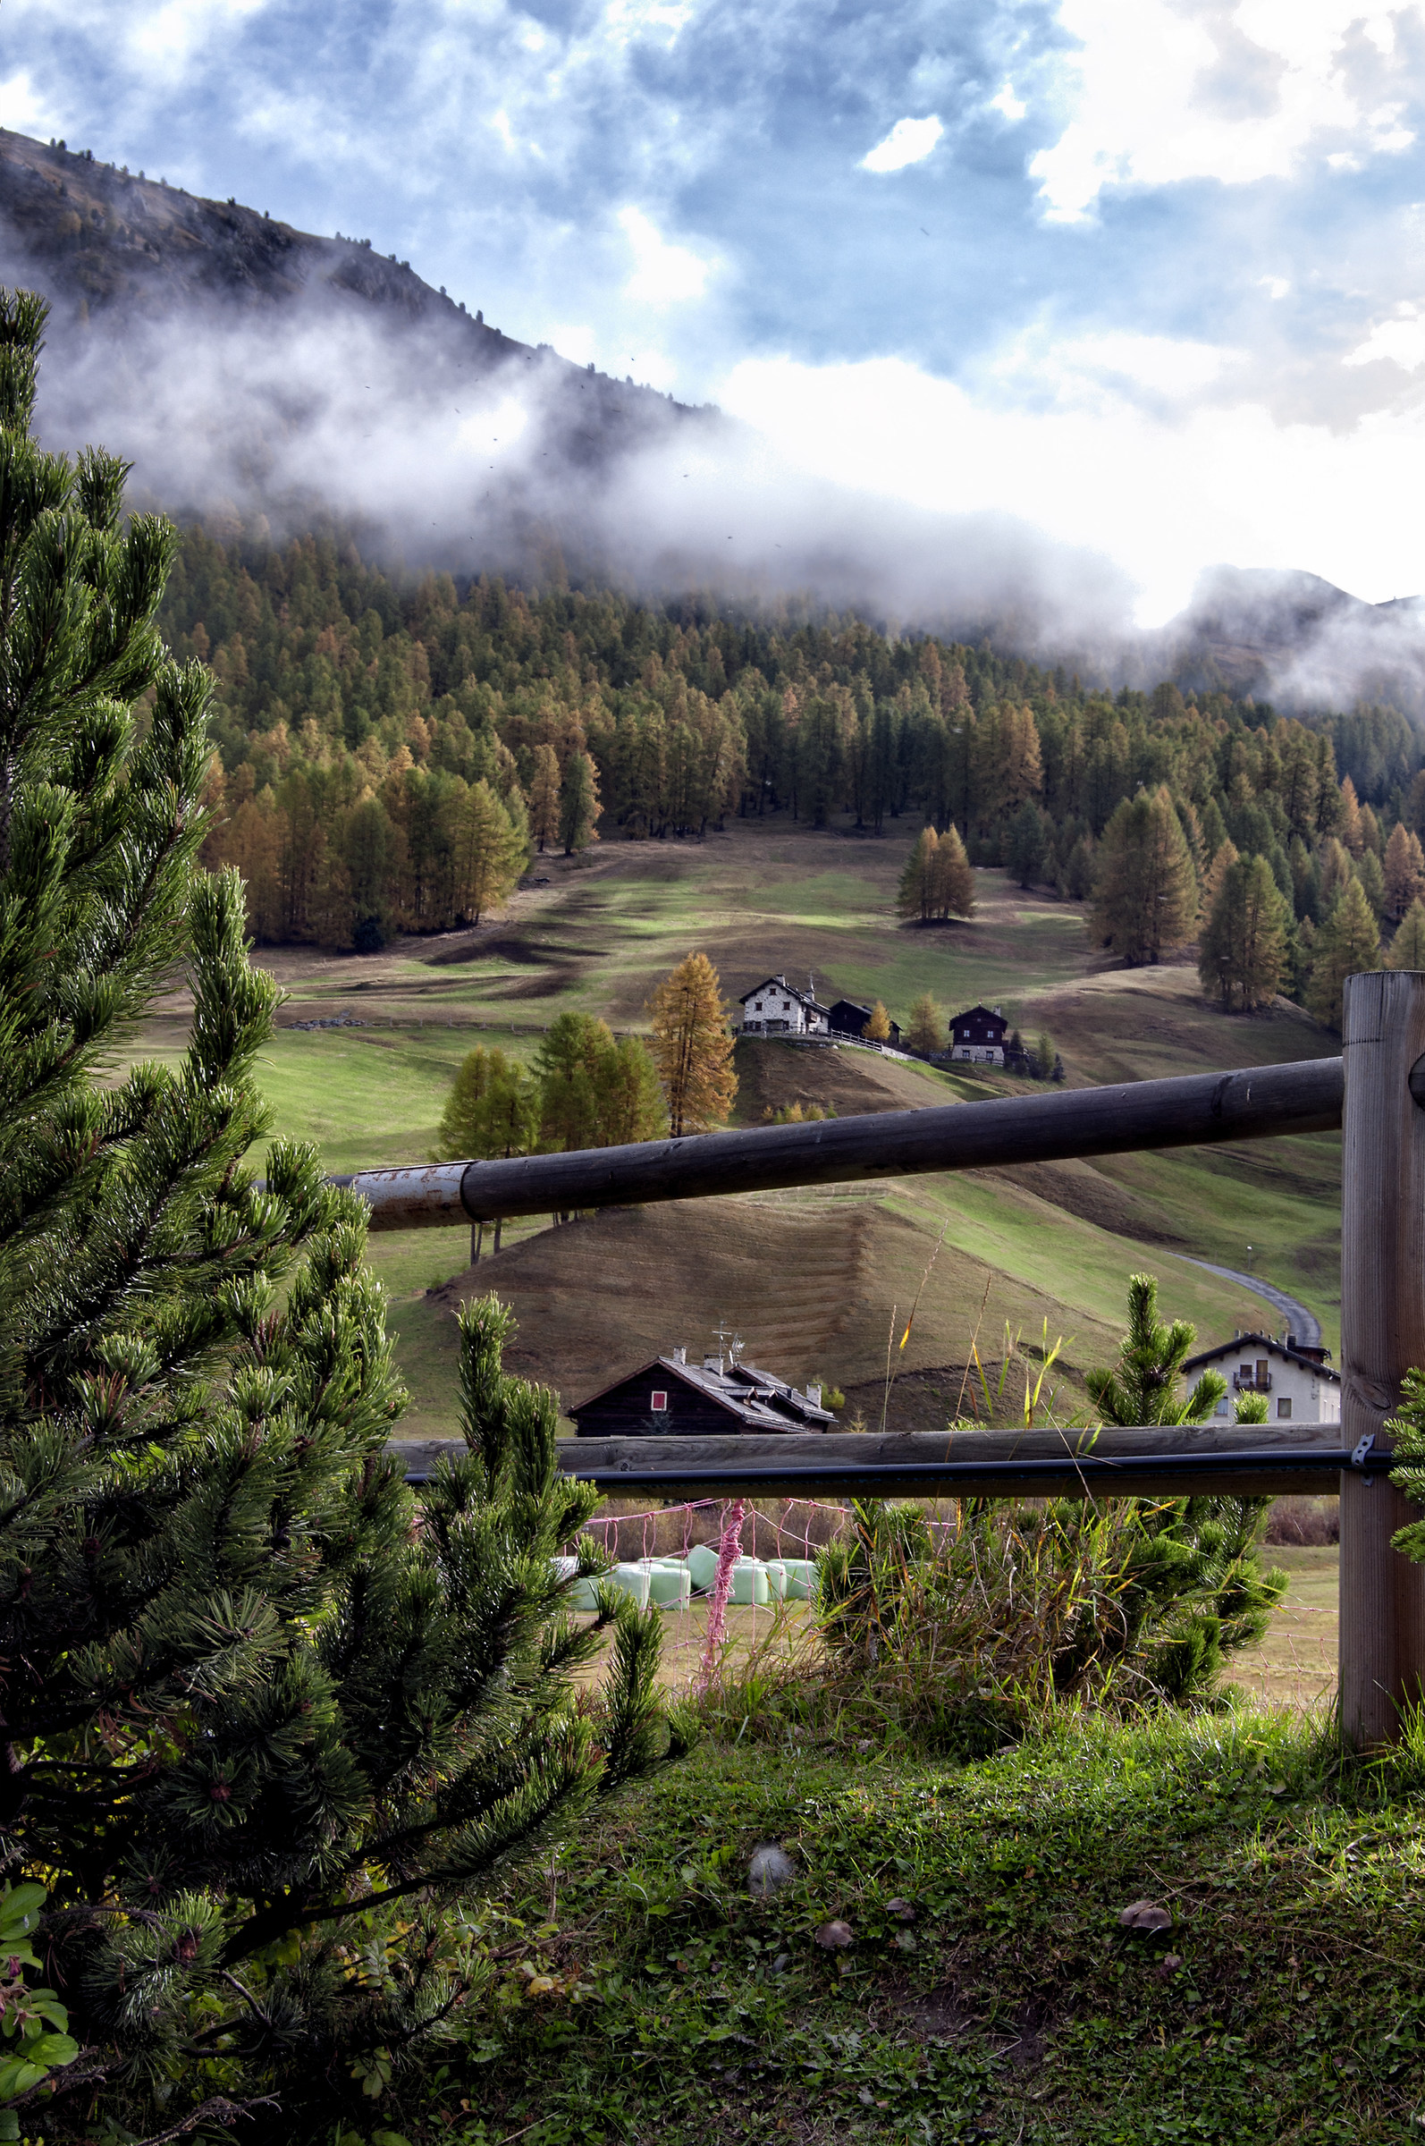
[[[240,867],[264,942],[449,929],[498,906],[530,852],[695,837],[732,813],[908,841],[955,826],[970,863],[1090,903],[1129,961],[1195,938],[1230,882],[1204,976],[1225,1006],[1260,998],[1262,974],[1309,996],[1322,931],[1354,949],[1425,893],[1423,753],[1389,706],[1298,721],[854,618],[461,590],[333,536],[260,549],[191,530],[163,622],[219,678],[206,854]],[[1150,895],[1144,841],[1165,873]],[[1255,944],[1221,955],[1270,893],[1232,878],[1251,858],[1281,897],[1266,966]]]

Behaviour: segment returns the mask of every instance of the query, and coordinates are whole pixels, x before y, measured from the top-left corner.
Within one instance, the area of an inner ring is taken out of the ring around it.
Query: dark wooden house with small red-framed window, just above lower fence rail
[[[783,1378],[734,1356],[655,1356],[569,1410],[579,1438],[725,1438],[730,1431],[826,1431],[835,1416],[822,1388],[798,1393]]]

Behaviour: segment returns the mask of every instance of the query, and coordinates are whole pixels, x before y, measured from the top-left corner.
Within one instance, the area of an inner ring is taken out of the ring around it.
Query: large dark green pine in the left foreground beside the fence
[[[552,1560],[599,1494],[509,1320],[468,1309],[416,1498],[365,1204],[249,1163],[277,985],[197,865],[210,678],[155,631],[174,532],[30,436],[43,320],[0,296],[0,1865],[47,1893],[82,2054],[41,2086],[86,2137],[268,2097],[315,2137],[449,2032],[446,1904],[652,1760],[657,1629],[605,1597],[590,1708]],[[116,1077],[176,972],[185,1054]]]

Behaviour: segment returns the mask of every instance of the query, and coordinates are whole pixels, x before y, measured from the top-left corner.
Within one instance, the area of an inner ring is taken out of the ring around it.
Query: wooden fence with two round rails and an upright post
[[[1425,972],[1382,970],[1348,981],[1341,1058],[577,1155],[369,1170],[341,1182],[369,1202],[373,1230],[410,1230],[1337,1127],[1343,1189],[1335,1436],[1331,1425],[1240,1425],[579,1440],[564,1466],[609,1491],[665,1496],[1339,1489],[1341,1725],[1352,1743],[1371,1747],[1395,1740],[1404,1708],[1425,1697],[1425,1567],[1391,1547],[1395,1530],[1419,1511],[1386,1479],[1384,1429],[1404,1373],[1425,1365]],[[429,1453],[410,1449],[414,1474]]]

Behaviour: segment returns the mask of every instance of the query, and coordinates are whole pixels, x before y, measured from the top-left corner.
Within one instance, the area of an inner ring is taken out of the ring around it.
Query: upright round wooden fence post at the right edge
[[[1425,1365],[1425,1109],[1410,1069],[1425,1056],[1425,974],[1373,970],[1346,983],[1341,1140],[1341,1444],[1373,1434]],[[1399,1736],[1425,1691],[1425,1567],[1391,1549],[1419,1509],[1384,1472],[1341,1476],[1341,1730],[1371,1747]]]

